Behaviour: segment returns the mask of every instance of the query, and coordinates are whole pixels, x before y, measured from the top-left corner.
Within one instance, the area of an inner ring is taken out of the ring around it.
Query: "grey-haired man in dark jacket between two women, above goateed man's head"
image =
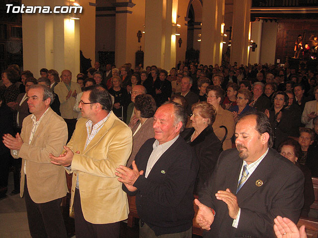
[[[255,108],[258,112],[265,112],[270,108],[270,99],[263,95],[264,84],[261,82],[253,83],[252,87],[253,98],[249,103],[249,106]]]

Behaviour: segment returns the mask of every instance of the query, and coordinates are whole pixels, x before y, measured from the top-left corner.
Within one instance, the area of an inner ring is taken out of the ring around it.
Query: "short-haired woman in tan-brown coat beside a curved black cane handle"
[[[224,125],[228,129],[228,135],[223,142],[223,150],[231,149],[232,148],[232,141],[231,138],[234,134],[234,119],[232,113],[224,110],[221,107],[221,102],[224,99],[225,92],[220,86],[209,86],[207,87],[207,102],[211,104],[216,112],[217,116],[215,121],[212,125],[214,133],[217,137],[222,140],[225,135],[225,129],[220,128],[221,125]]]

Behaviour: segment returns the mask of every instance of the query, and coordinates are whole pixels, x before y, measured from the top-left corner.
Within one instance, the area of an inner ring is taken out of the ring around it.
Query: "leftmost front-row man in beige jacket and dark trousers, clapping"
[[[61,199],[68,192],[65,170],[50,163],[67,141],[65,121],[50,108],[54,96],[44,85],[31,85],[27,93],[31,115],[23,120],[21,135],[3,136],[11,155],[22,158],[20,196],[24,194],[31,237],[66,238]]]

